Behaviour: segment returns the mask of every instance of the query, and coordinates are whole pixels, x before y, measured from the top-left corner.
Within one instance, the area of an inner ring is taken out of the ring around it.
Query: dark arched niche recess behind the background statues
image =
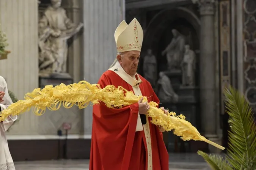
[[[146,32],[144,32],[143,46],[141,56],[146,55],[147,49],[152,49],[157,58],[157,67],[159,71],[165,71],[167,68],[166,57],[161,52],[171,42],[173,38],[171,29],[177,29],[181,34],[187,37],[187,44],[191,49],[199,52],[200,20],[189,9],[178,7],[160,11],[150,20]],[[199,60],[197,53],[197,60]],[[142,59],[143,60],[143,59]],[[140,62],[139,73],[142,73],[143,62]]]

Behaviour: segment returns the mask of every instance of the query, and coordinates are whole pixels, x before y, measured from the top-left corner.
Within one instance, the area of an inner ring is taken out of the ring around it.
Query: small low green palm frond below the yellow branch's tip
[[[203,151],[198,151],[197,153],[204,158],[213,170],[232,170],[227,161],[220,155],[208,155]]]

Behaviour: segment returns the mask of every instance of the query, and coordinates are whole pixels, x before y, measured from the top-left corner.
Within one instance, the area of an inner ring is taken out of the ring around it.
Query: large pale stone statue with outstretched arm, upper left
[[[69,76],[67,40],[83,27],[75,25],[61,8],[61,0],[51,0],[39,20],[39,76]]]

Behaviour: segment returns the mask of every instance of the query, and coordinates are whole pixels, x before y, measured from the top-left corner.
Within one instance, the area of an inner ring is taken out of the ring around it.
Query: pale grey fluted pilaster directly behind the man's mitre
[[[83,0],[83,78],[97,83],[116,57],[114,32],[123,20],[122,0]],[[92,107],[84,109],[84,133],[91,134]]]

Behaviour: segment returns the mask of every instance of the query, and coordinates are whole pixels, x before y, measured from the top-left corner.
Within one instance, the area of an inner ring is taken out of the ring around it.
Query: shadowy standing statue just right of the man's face
[[[144,78],[151,83],[152,87],[155,87],[157,79],[157,61],[151,49],[148,49],[147,55],[143,59],[143,74]]]

